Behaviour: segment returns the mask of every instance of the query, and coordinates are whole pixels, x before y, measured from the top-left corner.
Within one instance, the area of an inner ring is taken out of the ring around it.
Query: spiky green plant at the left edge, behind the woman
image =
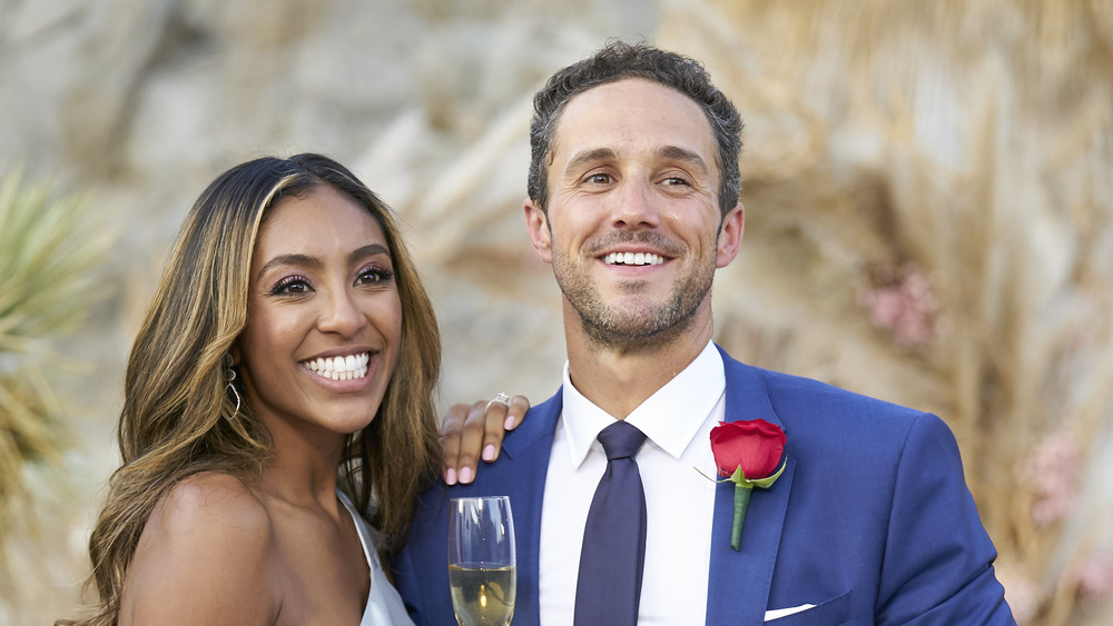
[[[0,537],[32,510],[27,464],[57,464],[67,446],[48,371],[66,365],[53,342],[76,329],[99,295],[96,268],[109,238],[88,199],[0,178]],[[0,569],[6,550],[0,543]]]

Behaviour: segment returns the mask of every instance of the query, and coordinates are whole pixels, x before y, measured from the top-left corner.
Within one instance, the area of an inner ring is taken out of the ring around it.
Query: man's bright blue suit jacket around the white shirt
[[[730,547],[733,485],[717,487],[708,625],[761,624],[766,610],[804,604],[816,606],[771,624],[1014,624],[993,573],[996,550],[939,418],[722,357],[726,420],[780,426],[787,466],[770,488],[754,490],[738,552]],[[541,507],[560,413],[558,391],[506,435],[499,460],[481,464],[472,485],[441,484],[421,497],[393,564],[418,625],[454,624],[446,505],[472,495],[510,496],[514,624],[539,623]],[[662,575],[691,573],[646,572]]]

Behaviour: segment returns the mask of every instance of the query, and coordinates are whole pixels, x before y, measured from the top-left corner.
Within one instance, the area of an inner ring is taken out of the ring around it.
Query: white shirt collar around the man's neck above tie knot
[[[708,341],[688,367],[647,398],[626,421],[679,459],[719,401],[726,385],[722,355],[715,342]],[[614,417],[577,390],[568,374],[568,361],[564,361],[563,401],[561,421],[572,467],[580,467],[599,431],[612,424]]]

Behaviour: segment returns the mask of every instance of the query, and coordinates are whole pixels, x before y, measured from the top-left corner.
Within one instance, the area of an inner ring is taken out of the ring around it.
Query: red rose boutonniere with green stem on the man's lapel
[[[711,454],[719,476],[735,484],[735,524],[730,531],[730,547],[738,549],[742,538],[742,520],[750,504],[754,487],[767,489],[785,471],[785,463],[777,469],[785,451],[785,431],[764,419],[749,421],[720,421],[711,429]],[[774,473],[776,470],[776,473]]]

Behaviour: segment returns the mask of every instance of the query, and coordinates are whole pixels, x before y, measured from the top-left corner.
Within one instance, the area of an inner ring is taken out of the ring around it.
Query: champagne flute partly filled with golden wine
[[[506,626],[518,592],[509,496],[452,498],[449,586],[460,626]]]

